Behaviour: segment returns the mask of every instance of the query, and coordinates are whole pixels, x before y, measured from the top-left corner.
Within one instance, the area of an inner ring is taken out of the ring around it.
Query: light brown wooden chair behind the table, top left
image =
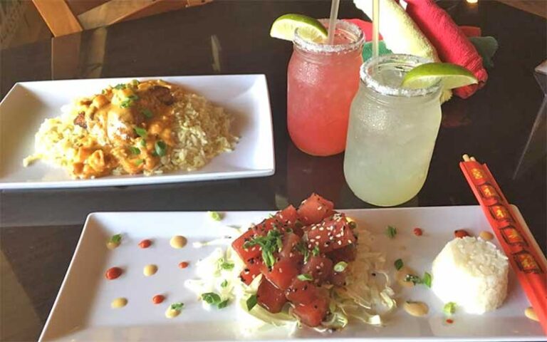
[[[212,0],[32,0],[53,36],[207,4]]]

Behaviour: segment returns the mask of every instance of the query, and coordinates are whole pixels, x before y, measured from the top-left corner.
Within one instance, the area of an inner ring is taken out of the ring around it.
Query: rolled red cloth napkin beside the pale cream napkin
[[[437,49],[441,61],[464,66],[474,73],[479,84],[453,89],[460,98],[469,98],[484,86],[488,74],[482,66],[482,58],[449,14],[433,0],[405,0],[407,13]]]

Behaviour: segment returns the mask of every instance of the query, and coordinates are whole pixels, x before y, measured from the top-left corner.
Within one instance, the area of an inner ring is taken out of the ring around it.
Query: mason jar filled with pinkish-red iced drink
[[[328,26],[328,20],[321,23]],[[287,71],[287,125],[294,144],[310,155],[344,150],[350,103],[359,86],[363,31],[336,24],[334,45],[298,35]]]

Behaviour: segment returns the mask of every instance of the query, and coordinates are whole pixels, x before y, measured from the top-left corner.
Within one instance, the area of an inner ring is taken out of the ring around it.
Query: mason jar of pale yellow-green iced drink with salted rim
[[[415,197],[427,177],[441,123],[439,83],[401,88],[407,71],[429,62],[410,55],[371,58],[361,67],[350,110],[344,175],[363,201],[388,207]]]

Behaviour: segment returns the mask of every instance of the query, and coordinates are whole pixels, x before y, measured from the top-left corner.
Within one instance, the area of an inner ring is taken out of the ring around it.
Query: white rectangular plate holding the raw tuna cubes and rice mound
[[[386,252],[387,265],[402,258],[420,274],[429,271],[434,257],[453,238],[454,229],[466,229],[474,235],[490,230],[478,206],[340,211],[347,212],[373,233],[374,249]],[[518,209],[515,208],[515,212],[526,227]],[[460,310],[452,324],[444,322],[443,304],[432,291],[417,286],[396,290],[397,300],[426,302],[430,308],[427,317],[412,317],[397,309],[383,327],[353,323],[335,333],[322,335],[303,328],[293,336],[288,336],[283,328],[272,327],[260,335],[241,336],[234,304],[222,310],[205,311],[183,283],[195,277],[192,264],[216,248],[196,249],[192,242],[224,237],[233,232],[226,225],[246,227],[261,221],[266,214],[268,212],[226,212],[222,222],[209,219],[206,212],[90,214],[41,341],[285,341],[292,338],[308,341],[543,341],[545,338],[539,323],[523,314],[529,306],[528,300],[512,271],[509,294],[501,308],[482,316],[464,314]],[[387,225],[397,227],[395,239],[386,237]],[[414,227],[423,229],[422,237],[412,234]],[[108,237],[120,232],[123,233],[120,247],[113,251],[106,249]],[[169,239],[173,235],[187,237],[187,247],[172,249]],[[137,247],[141,239],[152,239],[152,247]],[[189,268],[179,269],[180,261],[189,261]],[[143,276],[145,264],[157,264],[157,274]],[[105,271],[111,266],[122,267],[125,274],[115,281],[106,280]],[[165,303],[153,305],[151,299],[155,294],[165,294]],[[127,306],[110,309],[110,301],[119,296],[128,299]],[[167,306],[176,301],[184,302],[182,313],[173,319],[165,318]]]

